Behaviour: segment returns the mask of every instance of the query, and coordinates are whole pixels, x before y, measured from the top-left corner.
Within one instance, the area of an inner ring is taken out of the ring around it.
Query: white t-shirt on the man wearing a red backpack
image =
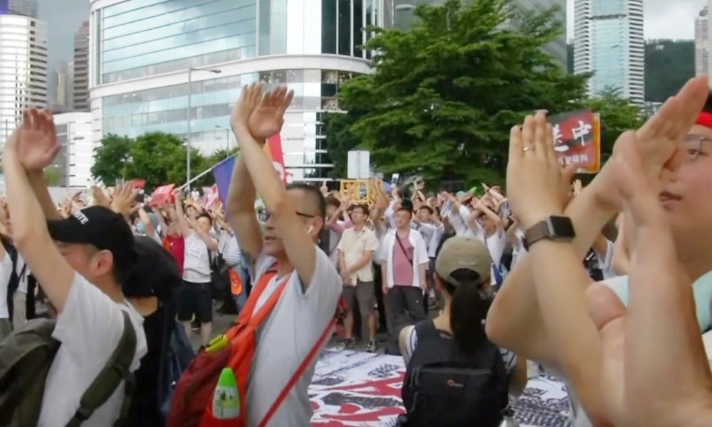
[[[274,262],[260,255],[253,278],[261,278]],[[253,273],[253,272],[251,272]],[[342,292],[342,280],[329,257],[316,248],[314,276],[303,291],[296,271],[291,273],[283,294],[271,314],[258,330],[257,347],[247,387],[247,425],[257,426],[278,394],[284,389],[299,365],[316,344],[336,312]],[[255,312],[267,302],[281,280],[272,278],[260,295]],[[253,280],[256,285],[257,280]],[[308,388],[314,375],[315,357],[297,381],[280,408],[271,418],[270,426],[308,426],[312,416]]]

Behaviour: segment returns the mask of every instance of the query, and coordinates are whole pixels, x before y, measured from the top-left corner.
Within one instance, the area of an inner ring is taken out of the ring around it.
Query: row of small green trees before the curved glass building
[[[232,152],[219,149],[204,156],[195,147],[191,149],[191,176],[197,176]],[[105,185],[116,179],[145,179],[148,189],[163,184],[182,184],[186,181],[187,152],[185,142],[176,135],[152,132],[136,139],[108,135],[94,149],[94,166],[91,174]],[[194,186],[213,184],[207,174]]]

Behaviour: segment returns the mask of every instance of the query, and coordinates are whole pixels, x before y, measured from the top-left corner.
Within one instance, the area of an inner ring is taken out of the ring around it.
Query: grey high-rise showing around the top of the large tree
[[[386,0],[384,2],[384,25],[407,30],[415,23],[417,6],[422,4],[441,6],[444,3],[445,0]],[[513,6],[519,7],[525,12],[545,11],[554,6],[558,7],[554,19],[559,21],[564,28],[555,41],[544,47],[544,51],[549,53],[565,70],[567,66],[566,0],[515,0]]]

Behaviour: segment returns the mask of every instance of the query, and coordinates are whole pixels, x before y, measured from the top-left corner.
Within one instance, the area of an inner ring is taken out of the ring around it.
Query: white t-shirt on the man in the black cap
[[[143,317],[128,303],[117,304],[79,274],[75,274],[64,310],[52,337],[62,343],[47,374],[38,427],[64,427],[74,416],[82,394],[104,368],[124,330],[127,312],[136,332],[136,371],[147,352]],[[123,401],[121,384],[82,427],[112,426]]]

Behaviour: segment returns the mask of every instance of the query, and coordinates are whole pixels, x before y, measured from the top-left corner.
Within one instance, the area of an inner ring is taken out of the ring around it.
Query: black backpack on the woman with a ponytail
[[[491,342],[465,354],[431,320],[415,325],[418,344],[403,382],[407,419],[402,425],[496,427],[508,404],[509,380]]]

